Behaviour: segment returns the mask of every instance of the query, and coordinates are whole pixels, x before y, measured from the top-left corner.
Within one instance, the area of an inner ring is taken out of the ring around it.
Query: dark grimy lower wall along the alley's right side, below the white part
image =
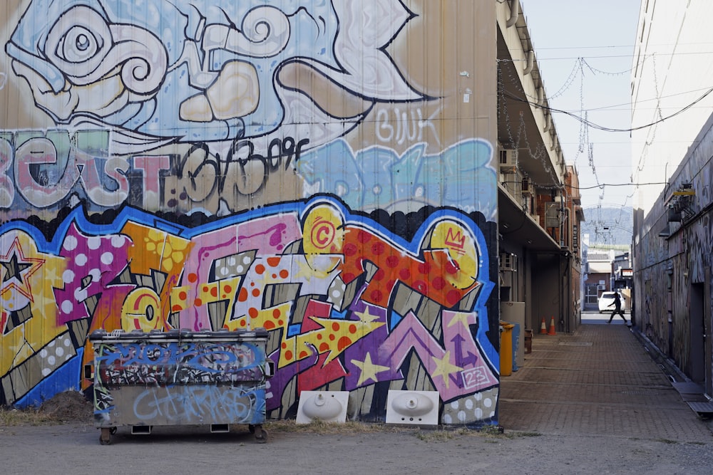
[[[703,315],[713,314],[713,301],[704,301],[704,292],[695,286],[710,286],[707,269],[713,266],[713,133],[708,124],[699,133],[696,145],[672,176],[670,186],[646,217],[648,232],[643,234],[635,251],[640,256],[640,271],[635,276],[637,308],[642,310],[640,326],[663,353],[671,357],[684,372],[702,365],[704,340],[710,321]],[[692,195],[677,197],[673,192],[684,183],[691,184]],[[670,207],[665,204],[666,199]],[[682,209],[682,216],[669,221],[669,209]],[[664,238],[662,229],[670,232]],[[699,301],[696,301],[699,299]],[[707,313],[704,308],[707,308]],[[699,315],[693,315],[697,314]],[[699,360],[700,359],[700,360]],[[710,367],[711,363],[707,362]],[[709,375],[711,377],[711,375]]]

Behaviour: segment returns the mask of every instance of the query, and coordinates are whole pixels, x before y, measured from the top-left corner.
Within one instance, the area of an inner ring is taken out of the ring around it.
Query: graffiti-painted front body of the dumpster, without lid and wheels
[[[95,351],[98,422],[118,413],[135,424],[250,423],[265,407],[265,351],[252,343],[142,340]]]

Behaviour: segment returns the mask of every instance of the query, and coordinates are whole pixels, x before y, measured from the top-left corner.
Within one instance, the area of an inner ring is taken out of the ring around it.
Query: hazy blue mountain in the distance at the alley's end
[[[629,207],[591,207],[584,210],[582,239],[589,234],[589,244],[631,245],[632,209]]]

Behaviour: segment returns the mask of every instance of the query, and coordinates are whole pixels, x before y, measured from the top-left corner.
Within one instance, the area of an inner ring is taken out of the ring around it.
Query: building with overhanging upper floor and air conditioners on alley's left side
[[[580,321],[580,225],[575,167],[565,165],[525,16],[498,3],[498,232],[501,308],[556,331]]]

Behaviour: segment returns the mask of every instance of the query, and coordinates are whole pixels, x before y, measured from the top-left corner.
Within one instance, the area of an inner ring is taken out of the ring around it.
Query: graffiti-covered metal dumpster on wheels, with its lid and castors
[[[94,422],[109,444],[118,426],[150,434],[162,425],[210,424],[227,432],[247,424],[267,441],[267,330],[140,330],[89,335],[94,348]]]

